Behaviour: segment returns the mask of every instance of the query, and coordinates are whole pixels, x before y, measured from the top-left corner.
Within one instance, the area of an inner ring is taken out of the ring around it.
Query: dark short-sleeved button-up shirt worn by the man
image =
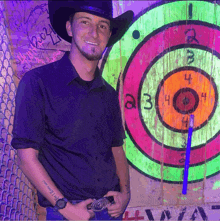
[[[39,150],[39,161],[67,199],[100,198],[119,190],[112,154],[125,138],[118,96],[98,68],[90,85],[83,81],[68,55],[20,81],[12,146]],[[40,192],[38,201],[51,206]]]

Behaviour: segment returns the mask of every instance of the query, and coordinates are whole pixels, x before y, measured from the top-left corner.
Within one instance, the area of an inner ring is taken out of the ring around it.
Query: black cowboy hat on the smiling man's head
[[[61,38],[70,43],[72,42],[72,37],[70,37],[66,31],[66,22],[69,20],[70,15],[76,12],[87,12],[110,20],[112,35],[107,47],[112,46],[122,38],[134,17],[133,11],[129,10],[113,18],[111,0],[48,0],[48,8],[53,29]]]

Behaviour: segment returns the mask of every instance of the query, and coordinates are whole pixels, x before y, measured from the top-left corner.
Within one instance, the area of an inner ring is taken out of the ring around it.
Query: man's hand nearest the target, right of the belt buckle
[[[121,214],[124,213],[129,200],[130,200],[130,194],[126,192],[117,192],[117,191],[109,191],[106,196],[113,196],[115,203],[112,205],[109,205],[108,213],[111,217],[119,217]]]

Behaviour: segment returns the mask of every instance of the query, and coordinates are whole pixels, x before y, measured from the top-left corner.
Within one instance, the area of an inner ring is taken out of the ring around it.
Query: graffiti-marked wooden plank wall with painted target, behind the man
[[[5,6],[18,83],[70,45],[51,29],[46,1]],[[114,17],[127,10],[134,23],[99,63],[104,78],[120,85],[132,191],[124,220],[218,220],[219,2],[114,1]],[[183,195],[190,114],[195,127]]]

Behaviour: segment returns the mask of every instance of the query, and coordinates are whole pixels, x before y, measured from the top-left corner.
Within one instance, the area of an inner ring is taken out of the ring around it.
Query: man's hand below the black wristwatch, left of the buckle
[[[89,220],[95,216],[92,210],[87,209],[87,205],[93,201],[92,199],[87,199],[75,205],[68,202],[66,207],[59,210],[59,212],[68,220]]]

